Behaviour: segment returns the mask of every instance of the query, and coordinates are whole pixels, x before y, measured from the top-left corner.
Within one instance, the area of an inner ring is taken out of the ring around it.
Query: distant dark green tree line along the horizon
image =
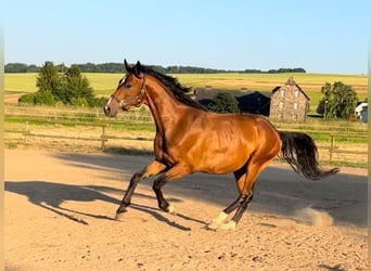
[[[73,66],[78,67],[81,73],[125,73],[125,67],[123,63],[86,63],[86,64],[73,64]],[[152,65],[155,70],[162,74],[227,74],[227,73],[240,73],[240,74],[280,74],[280,73],[306,73],[302,67],[295,68],[278,68],[269,70],[260,69],[243,69],[243,70],[231,70],[231,69],[215,69],[215,68],[203,68],[194,66],[161,66]],[[27,65],[24,63],[8,63],[4,66],[5,73],[39,73],[42,67],[37,65]],[[55,69],[59,73],[64,73],[68,69],[64,63],[55,65]]]

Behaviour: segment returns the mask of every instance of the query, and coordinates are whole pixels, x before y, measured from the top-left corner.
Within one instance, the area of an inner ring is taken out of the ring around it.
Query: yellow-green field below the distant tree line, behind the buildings
[[[121,74],[85,74],[97,95],[107,96],[116,88]],[[359,100],[368,95],[368,77],[366,75],[330,74],[175,74],[178,80],[192,88],[212,86],[214,89],[270,91],[282,86],[291,77],[310,98],[310,106],[316,107],[321,100],[321,87],[325,82],[342,81],[351,86]],[[5,74],[5,93],[35,92],[37,74]]]

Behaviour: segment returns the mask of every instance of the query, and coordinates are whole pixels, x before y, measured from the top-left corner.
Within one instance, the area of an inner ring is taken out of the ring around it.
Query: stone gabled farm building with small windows
[[[303,121],[307,116],[309,100],[293,77],[290,77],[284,86],[272,90],[269,115],[276,119]]]

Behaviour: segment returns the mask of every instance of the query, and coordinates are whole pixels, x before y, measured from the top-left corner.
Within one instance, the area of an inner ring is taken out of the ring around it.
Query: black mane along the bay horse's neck
[[[177,78],[168,76],[168,75],[164,75],[159,72],[156,72],[152,67],[144,66],[144,65],[140,65],[140,72],[142,72],[144,74],[152,75],[157,80],[159,80],[162,83],[164,83],[166,87],[168,87],[168,89],[174,93],[174,95],[176,96],[176,99],[179,102],[187,104],[189,106],[202,109],[202,111],[207,111],[203,105],[201,105],[199,102],[192,100],[189,96],[189,94],[187,94],[190,92],[191,88],[187,88],[187,87],[182,86],[178,81]]]

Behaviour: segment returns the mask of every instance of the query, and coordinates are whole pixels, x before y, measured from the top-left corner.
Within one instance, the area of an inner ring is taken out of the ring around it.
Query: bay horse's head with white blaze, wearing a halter
[[[117,115],[118,109],[127,111],[142,104],[145,90],[145,77],[141,72],[141,64],[130,65],[124,61],[127,74],[118,81],[115,92],[103,106],[104,114],[110,117]]]

